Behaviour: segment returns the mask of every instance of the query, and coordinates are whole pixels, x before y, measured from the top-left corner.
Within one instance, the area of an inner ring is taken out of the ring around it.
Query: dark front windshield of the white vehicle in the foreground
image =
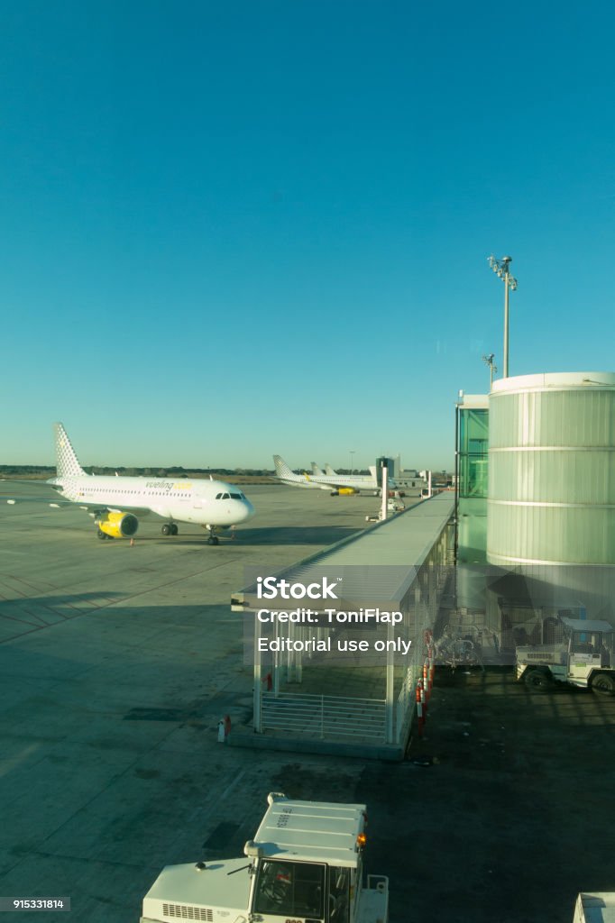
[[[261,859],[252,912],[322,920],[324,885],[324,865]]]

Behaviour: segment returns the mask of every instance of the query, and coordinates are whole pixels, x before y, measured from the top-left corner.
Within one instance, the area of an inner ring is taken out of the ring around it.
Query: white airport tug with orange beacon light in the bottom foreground
[[[167,866],[140,923],[388,923],[389,880],[363,882],[365,805],[295,801],[279,792],[247,857]]]

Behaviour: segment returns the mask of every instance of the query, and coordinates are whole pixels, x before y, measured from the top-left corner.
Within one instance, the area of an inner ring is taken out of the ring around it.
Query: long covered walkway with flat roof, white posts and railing
[[[254,709],[230,746],[403,758],[453,506],[442,492],[233,594]]]

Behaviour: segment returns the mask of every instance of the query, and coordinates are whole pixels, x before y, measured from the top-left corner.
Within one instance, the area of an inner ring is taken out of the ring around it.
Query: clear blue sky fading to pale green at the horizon
[[[615,8],[0,7],[2,462],[451,468],[457,391],[615,368]]]

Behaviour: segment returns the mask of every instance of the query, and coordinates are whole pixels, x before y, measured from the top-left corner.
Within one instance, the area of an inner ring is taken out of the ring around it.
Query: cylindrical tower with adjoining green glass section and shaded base
[[[615,374],[503,378],[457,405],[457,607],[500,650],[613,621]]]

